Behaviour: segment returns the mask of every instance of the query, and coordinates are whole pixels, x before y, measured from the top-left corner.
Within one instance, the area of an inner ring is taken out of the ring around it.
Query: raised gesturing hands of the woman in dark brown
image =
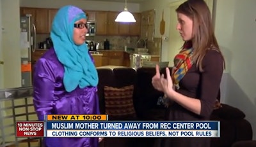
[[[164,92],[167,97],[172,97],[173,82],[168,67],[166,67],[166,78],[164,78],[164,74],[160,75],[159,66],[156,65],[156,75],[152,78],[152,85],[156,90]]]

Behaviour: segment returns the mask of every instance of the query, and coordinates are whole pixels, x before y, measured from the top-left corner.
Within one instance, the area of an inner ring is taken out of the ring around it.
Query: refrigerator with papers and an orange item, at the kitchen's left
[[[30,14],[20,17],[21,87],[32,86],[31,54],[36,48],[36,27],[31,17]]]

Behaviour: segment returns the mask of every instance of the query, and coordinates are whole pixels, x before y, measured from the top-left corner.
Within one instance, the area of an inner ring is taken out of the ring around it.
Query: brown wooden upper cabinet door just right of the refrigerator
[[[47,9],[36,8],[36,33],[49,33]]]

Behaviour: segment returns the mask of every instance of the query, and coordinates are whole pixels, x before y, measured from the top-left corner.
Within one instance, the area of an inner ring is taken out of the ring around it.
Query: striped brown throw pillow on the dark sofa
[[[134,118],[135,110],[132,100],[134,86],[122,88],[104,87],[106,114],[114,118]]]

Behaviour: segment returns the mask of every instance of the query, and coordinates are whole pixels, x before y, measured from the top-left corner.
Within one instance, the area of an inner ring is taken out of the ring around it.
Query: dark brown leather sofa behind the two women
[[[121,88],[134,85],[133,104],[136,111],[135,117],[120,116],[118,118],[109,116],[109,120],[164,120],[166,109],[158,105],[159,97],[163,96],[152,87],[151,79],[155,74],[154,67],[141,67],[136,71],[129,67],[118,67],[114,69],[99,68],[99,105],[100,113],[105,114],[104,86]],[[165,73],[165,69],[161,69]],[[232,146],[237,141],[252,140],[252,126],[244,119],[242,111],[227,104],[214,109],[211,120],[220,120],[220,136],[212,138],[212,147]],[[104,138],[100,146],[104,147],[136,147],[136,146],[161,146],[161,139],[157,138]]]

